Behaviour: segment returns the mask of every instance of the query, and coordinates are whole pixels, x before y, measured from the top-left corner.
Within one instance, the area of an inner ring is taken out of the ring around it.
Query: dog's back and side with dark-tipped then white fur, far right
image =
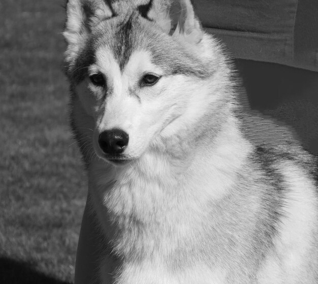
[[[259,279],[267,283],[269,271],[275,271],[281,282],[291,283],[305,276],[310,263],[317,263],[317,158],[303,149],[289,126],[257,112],[240,119],[241,131],[253,146],[249,157],[257,172],[253,182],[263,188],[265,217],[260,222],[266,225],[271,219],[272,249],[260,267]],[[308,279],[314,277],[313,272],[308,274]]]

